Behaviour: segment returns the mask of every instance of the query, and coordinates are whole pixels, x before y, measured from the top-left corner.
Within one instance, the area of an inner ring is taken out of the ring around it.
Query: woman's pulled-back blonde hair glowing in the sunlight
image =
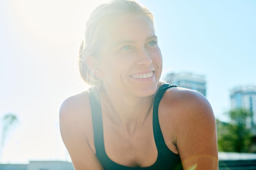
[[[85,25],[85,39],[79,51],[79,70],[83,80],[91,85],[101,85],[101,80],[94,75],[93,66],[88,66],[86,57],[99,57],[100,46],[106,38],[106,29],[115,24],[115,20],[126,14],[142,15],[154,26],[153,14],[136,0],[112,0],[96,7]]]

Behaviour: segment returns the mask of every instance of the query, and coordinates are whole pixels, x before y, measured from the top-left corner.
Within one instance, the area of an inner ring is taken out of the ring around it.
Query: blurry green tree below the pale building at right
[[[252,145],[250,118],[252,113],[245,109],[231,110],[226,113],[229,123],[217,123],[218,149],[223,152],[249,152]]]

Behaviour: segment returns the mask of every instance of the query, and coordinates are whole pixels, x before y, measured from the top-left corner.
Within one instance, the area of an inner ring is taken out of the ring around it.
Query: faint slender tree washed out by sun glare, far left
[[[1,132],[1,143],[0,143],[0,161],[2,160],[2,153],[4,149],[4,142],[11,128],[18,122],[18,117],[12,113],[7,113],[1,119],[2,132]]]

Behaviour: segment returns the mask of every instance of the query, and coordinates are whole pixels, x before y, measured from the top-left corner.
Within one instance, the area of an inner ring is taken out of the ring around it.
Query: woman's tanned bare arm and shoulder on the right
[[[206,97],[186,88],[169,88],[159,112],[159,121],[177,147],[184,169],[195,165],[197,169],[218,169],[216,119]]]

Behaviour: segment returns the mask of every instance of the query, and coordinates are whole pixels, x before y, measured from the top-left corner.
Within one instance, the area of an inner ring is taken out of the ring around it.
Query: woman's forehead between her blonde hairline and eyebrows
[[[155,35],[155,29],[150,19],[141,15],[124,15],[112,22],[107,29],[107,41],[143,41]]]

